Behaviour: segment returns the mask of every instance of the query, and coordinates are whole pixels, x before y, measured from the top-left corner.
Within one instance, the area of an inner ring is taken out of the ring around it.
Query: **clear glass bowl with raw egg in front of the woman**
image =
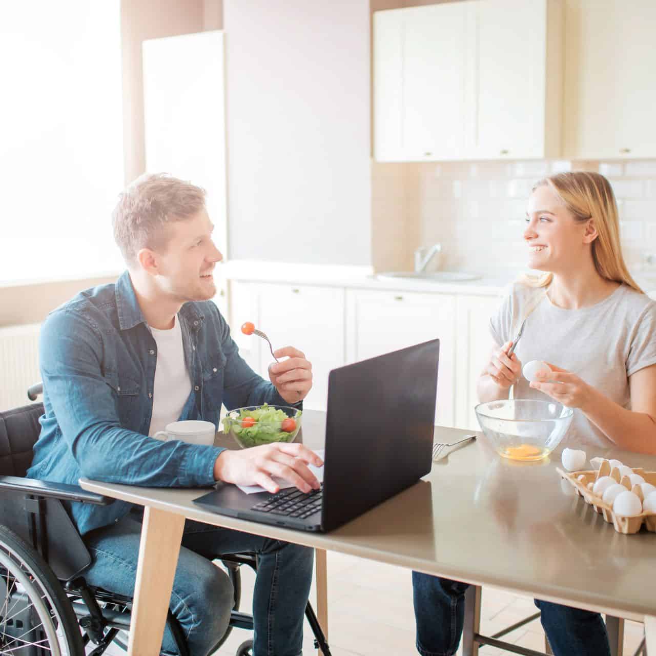
[[[510,460],[540,460],[564,438],[574,411],[556,401],[503,399],[479,403],[476,417],[497,453]]]

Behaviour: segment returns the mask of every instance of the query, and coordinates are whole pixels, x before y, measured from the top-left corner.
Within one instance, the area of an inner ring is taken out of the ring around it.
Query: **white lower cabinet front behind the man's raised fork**
[[[253,321],[271,340],[274,351],[295,346],[312,362],[314,382],[303,406],[325,410],[328,374],[344,365],[344,289],[314,285],[231,283],[231,327],[246,361],[268,380],[274,362],[268,344],[241,333]]]

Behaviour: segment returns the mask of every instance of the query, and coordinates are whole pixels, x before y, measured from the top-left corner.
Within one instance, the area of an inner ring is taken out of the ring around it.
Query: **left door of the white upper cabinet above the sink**
[[[379,161],[462,159],[470,2],[374,14]]]

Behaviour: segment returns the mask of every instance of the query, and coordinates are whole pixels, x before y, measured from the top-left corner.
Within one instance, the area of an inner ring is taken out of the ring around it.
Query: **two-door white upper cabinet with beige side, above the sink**
[[[375,12],[379,161],[560,154],[560,0]]]

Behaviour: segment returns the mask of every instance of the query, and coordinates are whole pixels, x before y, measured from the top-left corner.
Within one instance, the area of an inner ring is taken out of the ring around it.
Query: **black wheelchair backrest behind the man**
[[[25,476],[39,439],[43,403],[0,412],[0,476]]]

